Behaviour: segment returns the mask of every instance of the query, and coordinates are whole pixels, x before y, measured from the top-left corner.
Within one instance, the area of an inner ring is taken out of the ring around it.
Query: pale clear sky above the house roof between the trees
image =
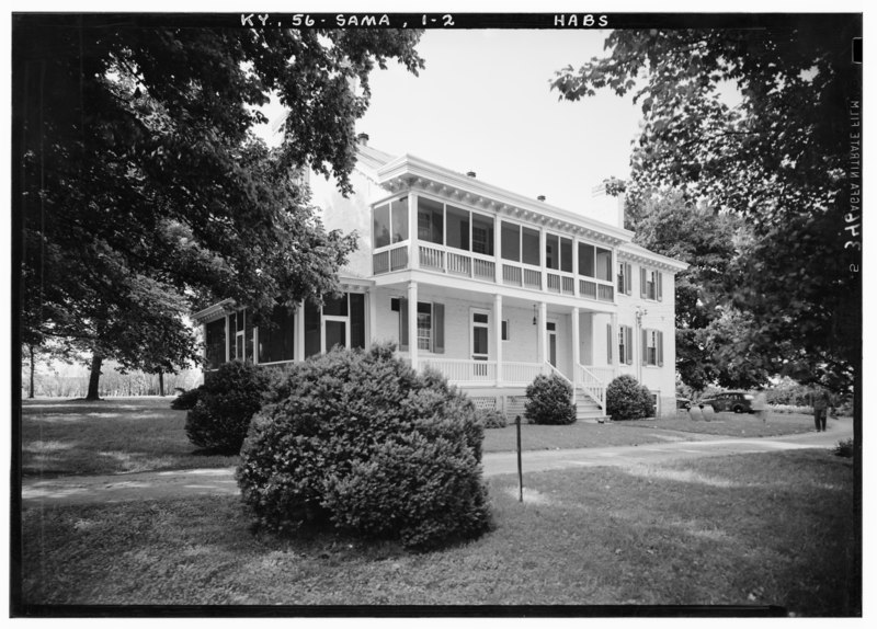
[[[641,112],[605,91],[576,103],[555,72],[601,55],[606,31],[426,31],[419,77],[392,62],[369,78],[357,123],[369,145],[410,153],[525,196],[580,210],[591,188],[629,174]]]

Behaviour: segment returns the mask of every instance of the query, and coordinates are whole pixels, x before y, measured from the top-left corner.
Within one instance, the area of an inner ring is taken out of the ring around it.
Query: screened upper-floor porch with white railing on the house
[[[373,227],[375,276],[419,270],[615,302],[614,250],[546,221],[488,216],[410,194],[375,206]]]

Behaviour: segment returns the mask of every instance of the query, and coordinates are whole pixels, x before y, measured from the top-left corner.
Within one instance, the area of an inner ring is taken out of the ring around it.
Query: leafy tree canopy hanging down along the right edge
[[[553,87],[571,101],[633,95],[645,121],[631,186],[680,190],[749,227],[731,270],[745,282],[730,297],[752,321],[738,341],[772,370],[840,389],[862,342],[861,238],[845,229],[861,184],[850,145],[861,18],[787,24],[615,31],[606,56]]]

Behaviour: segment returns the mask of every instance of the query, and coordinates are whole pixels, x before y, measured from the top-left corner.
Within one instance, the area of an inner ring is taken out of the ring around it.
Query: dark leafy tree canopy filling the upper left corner
[[[350,191],[368,75],[417,73],[419,32],[13,22],[24,342],[179,364],[181,312],[335,289],[354,239],[323,230],[293,174]],[[270,93],[288,110],[276,150],[253,135]]]

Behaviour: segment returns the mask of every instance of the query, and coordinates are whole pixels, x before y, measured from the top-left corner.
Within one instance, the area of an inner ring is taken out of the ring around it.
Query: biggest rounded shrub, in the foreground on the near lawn
[[[330,526],[425,549],[489,524],[483,427],[440,375],[335,350],[291,368],[253,418],[237,479],[258,525]]]

